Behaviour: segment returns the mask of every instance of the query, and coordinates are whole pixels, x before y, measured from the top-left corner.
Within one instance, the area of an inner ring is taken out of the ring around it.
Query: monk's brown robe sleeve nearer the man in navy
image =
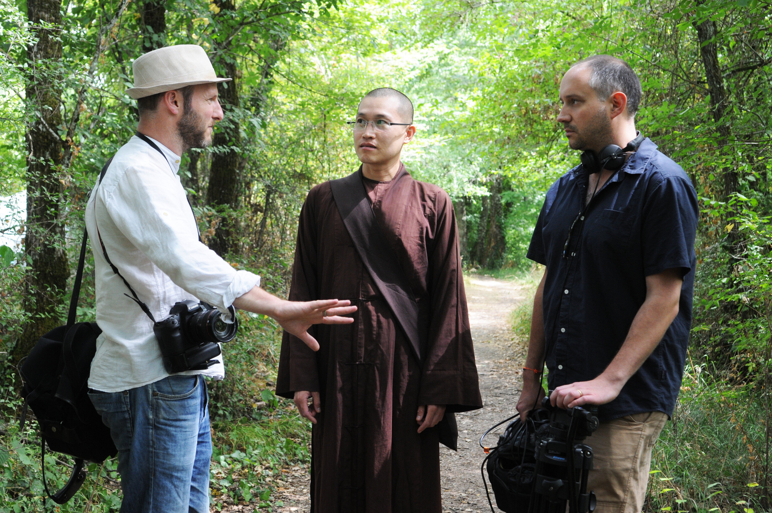
[[[444,404],[451,413],[482,407],[466,292],[459,230],[449,196],[435,199],[435,233],[429,254],[431,321],[418,404]]]

